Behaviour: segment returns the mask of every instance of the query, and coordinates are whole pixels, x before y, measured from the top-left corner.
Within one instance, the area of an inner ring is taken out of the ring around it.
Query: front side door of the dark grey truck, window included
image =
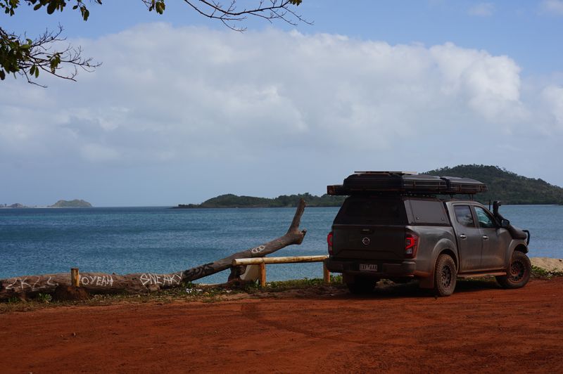
[[[483,250],[481,253],[481,269],[495,270],[505,267],[506,245],[502,232],[493,219],[493,215],[482,207],[474,206],[475,215],[479,222]]]

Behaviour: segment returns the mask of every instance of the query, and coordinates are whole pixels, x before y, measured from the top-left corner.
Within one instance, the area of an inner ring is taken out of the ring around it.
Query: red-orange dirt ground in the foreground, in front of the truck
[[[0,314],[0,371],[563,372],[563,278],[277,296]]]

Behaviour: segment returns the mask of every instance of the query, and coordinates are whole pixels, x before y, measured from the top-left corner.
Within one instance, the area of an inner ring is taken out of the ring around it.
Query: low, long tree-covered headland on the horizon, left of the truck
[[[255,207],[296,207],[303,199],[308,207],[339,207],[346,196],[322,195],[310,193],[299,195],[281,195],[277,198],[255,198],[253,196],[220,195],[205,200],[201,204],[180,204],[176,208],[255,208]]]

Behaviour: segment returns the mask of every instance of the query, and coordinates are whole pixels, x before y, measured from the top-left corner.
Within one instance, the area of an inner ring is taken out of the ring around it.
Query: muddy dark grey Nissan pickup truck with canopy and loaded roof
[[[328,235],[326,264],[351,292],[369,292],[381,278],[419,279],[441,296],[453,293],[458,277],[492,275],[504,288],[530,278],[529,232],[510,225],[499,202],[491,213],[473,200],[487,191],[479,181],[356,172],[327,189],[349,195]]]

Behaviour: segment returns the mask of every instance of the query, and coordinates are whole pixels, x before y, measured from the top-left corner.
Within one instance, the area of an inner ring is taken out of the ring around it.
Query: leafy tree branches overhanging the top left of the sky
[[[148,11],[156,11],[162,14],[165,11],[165,0],[141,0],[147,6]],[[297,25],[303,22],[312,25],[312,22],[305,20],[296,13],[295,7],[299,6],[303,0],[253,0],[255,6],[252,8],[238,8],[236,0],[230,1],[227,6],[223,6],[217,0],[184,0],[194,11],[204,17],[220,20],[231,30],[243,32],[246,27],[240,26],[239,22],[246,20],[248,15],[262,18],[269,22],[273,20],[283,20],[290,25]],[[55,11],[63,11],[68,3],[72,2],[73,10],[79,10],[82,19],[87,20],[90,12],[84,5],[84,0],[23,0],[25,4],[33,6],[34,11],[45,9],[48,14]],[[94,4],[102,4],[101,0],[90,0]],[[0,0],[0,11],[8,15],[14,15],[15,9],[20,5],[19,0]],[[6,75],[19,74],[27,82],[35,82],[39,77],[39,72],[46,72],[55,77],[74,81],[78,74],[78,67],[87,72],[94,71],[100,63],[94,63],[91,58],[82,58],[80,46],[75,48],[68,44],[61,51],[51,51],[54,46],[65,41],[61,37],[63,27],[59,25],[55,32],[46,31],[37,39],[27,39],[20,37],[12,32],[6,32],[0,27],[0,80],[6,79]],[[63,73],[62,68],[70,66],[70,72]]]

